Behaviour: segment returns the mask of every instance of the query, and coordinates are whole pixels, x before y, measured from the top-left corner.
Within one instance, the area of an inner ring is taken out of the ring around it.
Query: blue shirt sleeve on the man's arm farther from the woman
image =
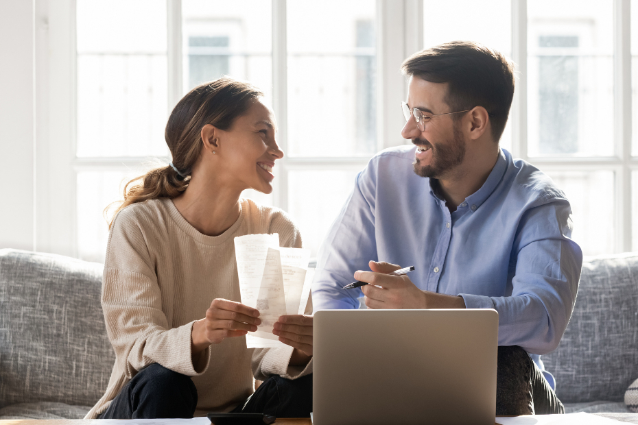
[[[467,308],[495,308],[499,345],[532,354],[556,350],[574,310],[582,252],[571,238],[565,199],[530,208],[522,216],[512,250],[512,294],[460,294]]]

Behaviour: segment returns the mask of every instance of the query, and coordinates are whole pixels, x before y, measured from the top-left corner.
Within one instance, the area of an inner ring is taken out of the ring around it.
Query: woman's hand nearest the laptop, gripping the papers
[[[279,341],[295,349],[290,365],[298,366],[308,363],[312,357],[312,316],[280,316],[273,325],[272,333],[279,337]]]

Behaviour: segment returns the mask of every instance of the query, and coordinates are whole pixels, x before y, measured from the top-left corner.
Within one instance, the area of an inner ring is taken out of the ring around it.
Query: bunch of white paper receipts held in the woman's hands
[[[247,234],[235,238],[235,257],[241,304],[257,308],[261,319],[257,332],[246,335],[246,347],[284,347],[272,326],[279,316],[303,314],[312,283],[310,250],[279,247],[276,233]]]

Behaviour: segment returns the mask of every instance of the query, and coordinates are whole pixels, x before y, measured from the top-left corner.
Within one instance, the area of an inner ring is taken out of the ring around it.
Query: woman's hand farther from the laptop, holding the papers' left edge
[[[239,302],[215,298],[206,310],[206,317],[193,324],[191,349],[198,354],[211,344],[218,344],[226,338],[243,337],[249,331],[255,332],[261,324],[259,311]]]

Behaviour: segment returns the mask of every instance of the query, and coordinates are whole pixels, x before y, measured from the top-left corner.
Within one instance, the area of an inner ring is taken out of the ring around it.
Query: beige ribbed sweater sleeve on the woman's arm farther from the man
[[[154,269],[135,211],[126,208],[110,232],[102,282],[102,309],[116,361],[129,379],[152,363],[187,376],[203,374],[211,350],[193,364],[193,322],[169,326]]]

